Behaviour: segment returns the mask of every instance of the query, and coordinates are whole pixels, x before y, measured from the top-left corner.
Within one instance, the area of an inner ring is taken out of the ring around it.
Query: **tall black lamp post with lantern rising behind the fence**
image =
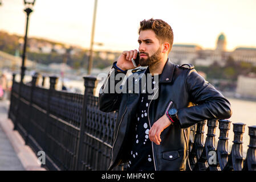
[[[24,4],[26,6],[26,9],[24,10],[27,14],[27,20],[26,20],[26,33],[24,37],[24,44],[23,44],[23,53],[22,53],[22,66],[21,66],[21,83],[23,83],[23,78],[25,76],[25,59],[26,59],[26,48],[27,48],[27,28],[29,27],[29,15],[32,13],[31,7],[34,6],[35,0],[24,0]]]

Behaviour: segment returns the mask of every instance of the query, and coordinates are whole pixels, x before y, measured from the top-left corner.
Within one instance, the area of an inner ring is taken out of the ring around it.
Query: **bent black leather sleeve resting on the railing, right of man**
[[[205,119],[227,119],[232,111],[229,101],[198,75],[195,69],[189,70],[185,77],[192,107],[178,109],[178,118],[182,128],[192,126]]]

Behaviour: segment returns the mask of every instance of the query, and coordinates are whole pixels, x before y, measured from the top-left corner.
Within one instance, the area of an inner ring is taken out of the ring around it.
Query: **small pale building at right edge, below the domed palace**
[[[248,76],[238,76],[236,93],[241,97],[256,98],[256,75],[251,73]]]

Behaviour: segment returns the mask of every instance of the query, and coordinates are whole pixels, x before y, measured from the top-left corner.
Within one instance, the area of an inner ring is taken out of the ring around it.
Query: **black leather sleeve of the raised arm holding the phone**
[[[113,64],[115,63],[116,62],[114,62]],[[121,82],[120,80],[123,80],[126,73],[127,71],[125,73],[117,72],[112,65],[112,68],[108,73],[108,77],[105,79],[104,84],[101,86],[99,92],[99,109],[101,111],[112,112],[119,110],[122,92],[121,85],[120,90],[116,90],[116,85]],[[117,77],[119,79],[116,80]]]

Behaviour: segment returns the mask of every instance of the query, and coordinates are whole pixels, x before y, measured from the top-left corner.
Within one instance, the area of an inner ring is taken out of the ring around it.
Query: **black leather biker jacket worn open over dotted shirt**
[[[139,76],[145,71],[146,69],[133,70],[133,75],[138,73],[133,84],[141,84],[137,80],[140,80]],[[112,67],[99,94],[99,109],[101,111],[118,111],[109,170],[118,164],[128,162],[129,144],[132,143],[129,129],[133,126],[132,121],[134,121],[141,93],[105,93],[111,87],[119,86],[120,80],[116,80],[115,85],[109,84],[111,76],[117,75],[117,73],[120,72]],[[120,74],[123,79],[125,73]],[[152,100],[148,106],[151,110],[148,113],[149,125],[152,126],[165,114],[167,109],[171,108],[178,110],[180,121],[162,131],[160,145],[152,142],[155,169],[190,170],[188,160],[190,126],[204,119],[230,118],[230,103],[209,82],[198,75],[195,69],[173,64],[169,59],[160,76],[159,89],[156,92],[159,92],[159,98]],[[170,107],[168,108],[168,106]]]

